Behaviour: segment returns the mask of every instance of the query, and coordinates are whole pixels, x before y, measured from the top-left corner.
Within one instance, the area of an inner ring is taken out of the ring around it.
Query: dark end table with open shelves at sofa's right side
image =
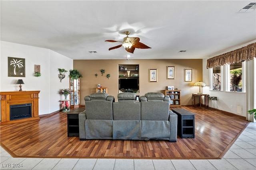
[[[180,138],[195,138],[195,113],[185,109],[172,109],[178,115],[178,135]]]

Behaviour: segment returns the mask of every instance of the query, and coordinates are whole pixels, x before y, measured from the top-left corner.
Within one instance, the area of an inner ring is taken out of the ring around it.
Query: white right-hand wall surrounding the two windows
[[[226,66],[223,66],[223,82],[221,86],[223,86],[223,91],[214,91],[214,90],[209,90],[210,89],[210,69],[206,69],[206,64],[207,64],[207,59],[210,59],[212,57],[228,53],[230,51],[233,51],[235,49],[239,49],[241,47],[245,47],[246,45],[249,45],[251,43],[255,43],[255,41],[252,41],[250,43],[246,43],[243,45],[240,45],[238,47],[234,47],[232,49],[228,49],[226,51],[223,51],[222,53],[215,54],[213,56],[207,57],[203,59],[203,82],[206,83],[206,86],[203,88],[203,93],[209,94],[210,96],[216,96],[218,99],[218,109],[227,111],[230,113],[234,113],[237,115],[242,115],[246,117],[247,110],[246,110],[246,93],[244,92],[226,92],[225,87],[226,87]],[[243,74],[244,75],[244,74]],[[244,77],[243,77],[244,78]],[[214,102],[209,101],[209,104],[212,107],[214,107]],[[232,105],[232,106],[231,106]],[[236,106],[237,105],[242,105],[242,114],[237,113]],[[232,108],[231,108],[232,107]],[[215,108],[216,108],[216,102],[215,102]]]

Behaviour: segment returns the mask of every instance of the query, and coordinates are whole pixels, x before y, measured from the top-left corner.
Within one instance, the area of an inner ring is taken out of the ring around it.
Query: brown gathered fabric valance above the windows
[[[253,60],[254,57],[256,57],[256,43],[210,58],[207,60],[206,68],[214,68],[226,64]]]

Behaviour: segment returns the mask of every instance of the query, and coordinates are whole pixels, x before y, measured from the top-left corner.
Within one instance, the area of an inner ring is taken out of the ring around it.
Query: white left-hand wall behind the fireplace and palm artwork
[[[8,57],[25,59],[26,77],[8,77]],[[40,77],[34,76],[35,64],[40,65]],[[39,115],[61,109],[59,100],[64,96],[60,95],[59,91],[62,88],[69,88],[69,72],[60,82],[58,68],[73,69],[73,60],[50,49],[1,41],[0,91],[18,91],[18,79],[25,83],[22,90],[40,90]]]

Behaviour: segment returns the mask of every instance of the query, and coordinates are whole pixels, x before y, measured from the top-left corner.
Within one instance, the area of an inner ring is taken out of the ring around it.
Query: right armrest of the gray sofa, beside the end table
[[[170,121],[170,142],[177,141],[177,128],[178,128],[178,115],[169,110],[169,121]]]

